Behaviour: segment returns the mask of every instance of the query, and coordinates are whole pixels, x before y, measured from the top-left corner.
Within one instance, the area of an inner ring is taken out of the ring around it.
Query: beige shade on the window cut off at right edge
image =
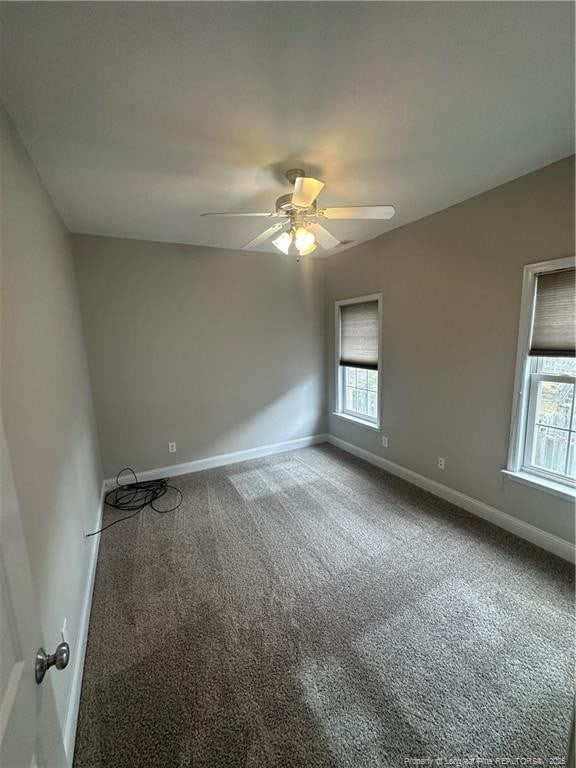
[[[543,272],[537,277],[530,354],[574,357],[574,269]]]

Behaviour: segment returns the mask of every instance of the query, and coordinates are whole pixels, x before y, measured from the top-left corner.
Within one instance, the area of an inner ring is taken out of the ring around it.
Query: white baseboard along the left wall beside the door
[[[94,523],[93,530],[97,531],[102,526],[102,511],[104,508],[105,483],[102,484],[100,492],[100,503],[98,514]],[[98,549],[100,547],[100,536],[92,536],[86,539],[86,549],[88,550],[88,571],[86,577],[86,587],[84,590],[84,599],[82,604],[82,613],[80,616],[80,625],[78,627],[78,636],[76,639],[75,653],[71,654],[74,668],[72,670],[72,683],[70,694],[68,696],[68,708],[66,710],[66,720],[64,723],[64,749],[69,765],[72,765],[74,759],[74,744],[76,742],[76,726],[78,725],[78,712],[80,709],[80,695],[82,693],[82,675],[84,673],[84,659],[86,658],[86,643],[88,641],[88,627],[90,624],[90,610],[92,608],[92,594],[94,592],[94,580],[96,578],[96,564],[98,562]]]

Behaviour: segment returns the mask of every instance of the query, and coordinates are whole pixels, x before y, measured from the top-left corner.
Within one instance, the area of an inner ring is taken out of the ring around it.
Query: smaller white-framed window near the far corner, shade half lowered
[[[336,414],[380,426],[381,297],[336,303]]]

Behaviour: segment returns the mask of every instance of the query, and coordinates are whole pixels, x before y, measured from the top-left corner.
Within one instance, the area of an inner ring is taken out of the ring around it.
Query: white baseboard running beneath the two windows
[[[400,466],[400,464],[394,464],[392,461],[382,458],[375,453],[366,451],[363,448],[358,448],[352,443],[347,443],[345,440],[341,440],[334,435],[328,435],[328,442],[335,445],[337,448],[341,448],[343,451],[354,454],[360,459],[375,464],[381,469],[385,469],[393,475],[407,480],[413,485],[417,485],[419,488],[423,488],[425,491],[433,493],[435,496],[439,496],[445,501],[449,501],[451,504],[455,504],[457,507],[465,509],[467,512],[471,512],[473,515],[488,520],[490,523],[494,523],[499,528],[519,536],[521,539],[526,539],[532,544],[536,544],[542,549],[546,549],[548,552],[552,552],[559,557],[564,558],[570,562],[574,562],[575,559],[575,547],[569,541],[561,539],[559,536],[555,536],[552,533],[543,531],[541,528],[537,528],[535,525],[526,523],[523,520],[519,520],[517,517],[513,517],[506,512],[502,512],[496,507],[491,507],[485,504],[483,501],[467,496],[465,493],[455,491],[453,488],[449,488],[447,485],[442,485],[435,480],[431,480],[424,475],[419,475],[417,472],[413,472],[411,469]]]

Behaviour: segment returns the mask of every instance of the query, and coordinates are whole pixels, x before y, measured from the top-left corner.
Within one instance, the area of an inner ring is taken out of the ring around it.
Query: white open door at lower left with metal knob
[[[12,467],[0,413],[0,766],[67,768],[50,670],[36,683],[43,645]],[[54,649],[47,648],[48,652]]]

